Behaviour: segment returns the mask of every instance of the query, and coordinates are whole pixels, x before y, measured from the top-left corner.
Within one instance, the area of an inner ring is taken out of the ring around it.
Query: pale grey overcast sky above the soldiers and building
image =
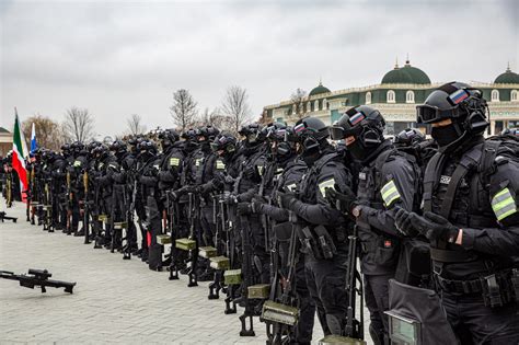
[[[493,81],[518,71],[519,1],[0,0],[0,126],[88,108],[101,136],[139,114],[173,126],[172,93],[200,110],[229,85],[254,115],[297,88],[379,83],[410,54],[431,81]]]

